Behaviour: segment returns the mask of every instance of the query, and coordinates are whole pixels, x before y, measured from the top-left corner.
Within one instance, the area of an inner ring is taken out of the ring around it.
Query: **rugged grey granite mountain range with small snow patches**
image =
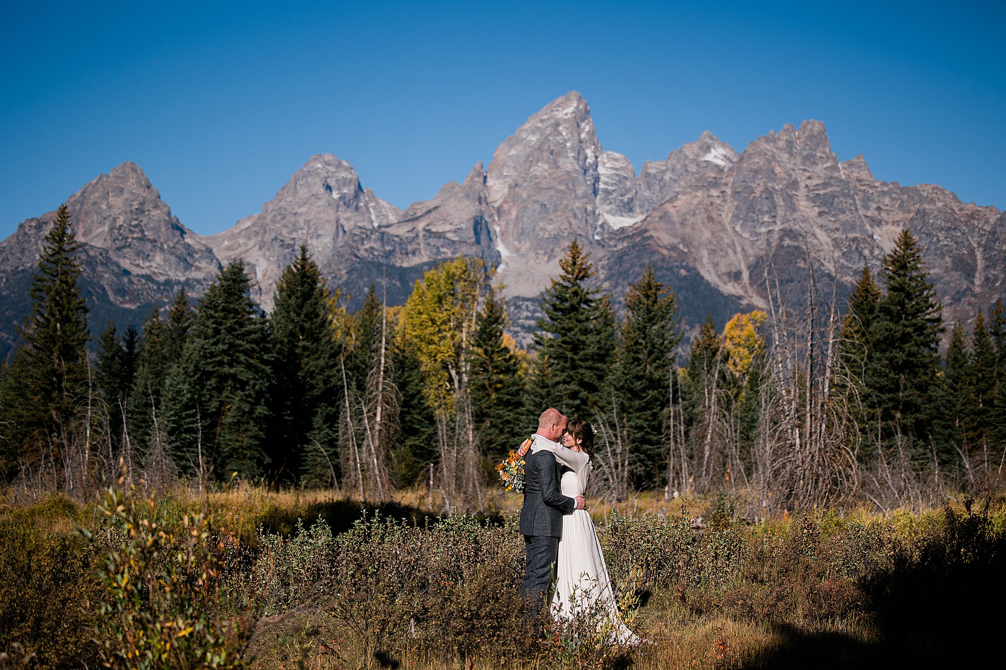
[[[221,264],[241,258],[268,311],[284,267],[307,244],[332,286],[358,306],[371,284],[401,304],[414,281],[459,255],[498,265],[518,341],[539,293],[576,238],[618,306],[647,264],[678,297],[693,329],[767,306],[766,277],[799,294],[808,266],[847,294],[877,270],[902,228],[918,238],[945,318],[974,317],[1004,297],[1006,215],[930,184],[877,180],[863,157],[839,161],[824,124],[805,121],[741,153],[711,133],[647,161],[638,173],[606,151],[586,102],[552,101],[475,165],[404,210],[365,188],[346,161],[312,156],[262,211],[211,235],[186,228],[139,166],[123,163],[66,200],[92,306],[93,334],[109,320],[140,323],[179,287],[199,296]],[[29,309],[28,285],[54,210],[0,242],[0,355]]]

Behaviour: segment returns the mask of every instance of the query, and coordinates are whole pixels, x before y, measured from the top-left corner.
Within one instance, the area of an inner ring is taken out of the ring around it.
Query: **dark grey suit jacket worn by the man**
[[[560,493],[559,479],[568,470],[548,451],[524,458],[524,507],[520,510],[521,535],[562,536],[562,515],[576,509],[576,501]]]

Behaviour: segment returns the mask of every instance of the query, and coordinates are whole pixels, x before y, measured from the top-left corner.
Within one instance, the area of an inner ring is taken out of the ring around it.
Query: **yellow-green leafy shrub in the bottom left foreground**
[[[105,523],[80,533],[100,553],[102,593],[91,608],[107,665],[117,668],[235,668],[249,629],[218,599],[223,556],[200,515],[173,518],[132,489],[110,489]],[[232,613],[231,613],[232,614]]]

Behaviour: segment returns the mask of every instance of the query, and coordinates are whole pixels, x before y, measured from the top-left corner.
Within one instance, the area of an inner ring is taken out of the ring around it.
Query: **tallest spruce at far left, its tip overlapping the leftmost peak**
[[[31,282],[31,314],[19,329],[22,346],[0,387],[0,475],[51,447],[58,463],[76,405],[88,392],[88,306],[66,205],[45,234]]]

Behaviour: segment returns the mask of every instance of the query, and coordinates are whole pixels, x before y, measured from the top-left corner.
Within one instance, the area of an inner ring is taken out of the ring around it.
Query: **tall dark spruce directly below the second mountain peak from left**
[[[275,481],[332,485],[338,468],[338,346],[329,325],[328,290],[301,245],[276,287],[272,314]]]

